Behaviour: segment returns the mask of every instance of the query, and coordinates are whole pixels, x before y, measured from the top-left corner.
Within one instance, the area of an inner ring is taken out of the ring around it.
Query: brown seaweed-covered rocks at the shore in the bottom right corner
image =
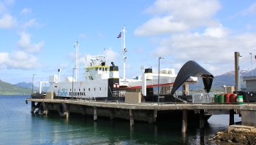
[[[239,125],[238,125],[239,126]],[[252,127],[254,128],[254,127]],[[216,144],[253,144],[256,145],[256,132],[255,129],[233,127],[229,130],[222,130],[214,136]]]

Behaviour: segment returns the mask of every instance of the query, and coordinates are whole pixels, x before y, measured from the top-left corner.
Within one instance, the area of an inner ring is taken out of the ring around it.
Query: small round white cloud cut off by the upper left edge
[[[0,18],[0,28],[12,28],[15,26],[16,20],[12,15],[5,14]]]

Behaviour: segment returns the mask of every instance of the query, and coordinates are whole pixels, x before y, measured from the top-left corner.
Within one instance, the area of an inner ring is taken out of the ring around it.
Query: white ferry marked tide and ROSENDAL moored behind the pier
[[[141,93],[146,101],[156,101],[157,95],[170,95],[173,84],[177,77],[174,68],[163,68],[153,74],[152,68],[141,68],[143,73],[132,79],[126,78],[126,52],[125,26],[118,38],[122,36],[122,50],[124,54],[123,77],[119,75],[119,68],[115,63],[107,64],[104,55],[91,56],[89,63],[83,72],[83,80],[78,80],[78,59],[79,43],[76,42],[75,67],[72,70],[72,77],[61,80],[59,75],[51,75],[48,82],[40,82],[39,93],[42,94],[42,83],[48,83],[49,92],[54,93],[55,98],[80,98],[86,100],[114,101],[122,100],[127,92]],[[160,59],[160,58],[159,58]],[[87,60],[87,59],[86,59]],[[187,82],[197,82],[197,77],[189,77]],[[36,98],[38,94],[32,95]]]

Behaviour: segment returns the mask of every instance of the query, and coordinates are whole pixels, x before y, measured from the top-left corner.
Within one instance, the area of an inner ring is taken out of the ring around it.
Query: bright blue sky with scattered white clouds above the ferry
[[[15,84],[72,76],[75,42],[80,79],[86,55],[107,55],[122,76],[126,26],[127,77],[140,66],[175,68],[195,60],[214,76],[256,67],[256,1],[247,0],[0,0],[0,79]],[[252,52],[252,55],[250,55]],[[252,59],[251,59],[252,57]]]

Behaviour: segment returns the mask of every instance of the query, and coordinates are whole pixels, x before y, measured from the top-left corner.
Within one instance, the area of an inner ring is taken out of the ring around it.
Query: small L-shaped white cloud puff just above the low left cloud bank
[[[26,32],[20,33],[20,40],[18,41],[18,47],[24,52],[39,52],[44,42],[38,42],[36,44],[31,43],[30,35]]]

